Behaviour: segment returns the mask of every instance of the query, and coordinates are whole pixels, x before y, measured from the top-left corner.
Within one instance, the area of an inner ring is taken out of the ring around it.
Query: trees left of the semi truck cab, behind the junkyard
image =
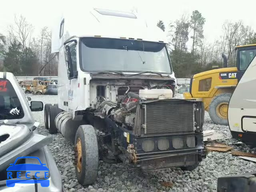
[[[34,26],[24,16],[15,16],[8,35],[0,33],[0,71],[20,76],[57,75],[57,55],[51,53],[51,31],[41,29],[33,36]]]

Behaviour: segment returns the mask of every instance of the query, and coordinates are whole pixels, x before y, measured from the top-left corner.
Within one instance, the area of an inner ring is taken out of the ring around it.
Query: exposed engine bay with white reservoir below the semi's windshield
[[[108,116],[119,126],[132,130],[140,102],[170,99],[174,92],[172,80],[91,80],[90,106],[96,116]]]

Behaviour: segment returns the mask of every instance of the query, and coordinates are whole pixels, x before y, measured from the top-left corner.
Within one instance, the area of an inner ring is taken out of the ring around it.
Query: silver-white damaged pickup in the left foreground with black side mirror
[[[15,76],[0,72],[0,191],[62,192],[60,173],[47,147],[52,137],[38,134],[39,123],[32,118],[31,111],[42,111],[43,103],[28,100]],[[28,164],[47,168],[48,177]]]

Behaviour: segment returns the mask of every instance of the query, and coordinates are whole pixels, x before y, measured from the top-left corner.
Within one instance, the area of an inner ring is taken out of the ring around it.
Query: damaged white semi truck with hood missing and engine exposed
[[[164,32],[132,13],[82,14],[86,25],[67,16],[53,33],[58,106],[45,106],[46,128],[76,146],[78,181],[96,180],[98,159],[196,167],[204,155],[204,106],[172,98],[176,78]]]

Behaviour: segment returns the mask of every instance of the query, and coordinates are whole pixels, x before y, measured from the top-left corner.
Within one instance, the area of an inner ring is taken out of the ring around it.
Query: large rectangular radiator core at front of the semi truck
[[[194,130],[194,110],[190,102],[148,103],[142,114],[146,134]]]

